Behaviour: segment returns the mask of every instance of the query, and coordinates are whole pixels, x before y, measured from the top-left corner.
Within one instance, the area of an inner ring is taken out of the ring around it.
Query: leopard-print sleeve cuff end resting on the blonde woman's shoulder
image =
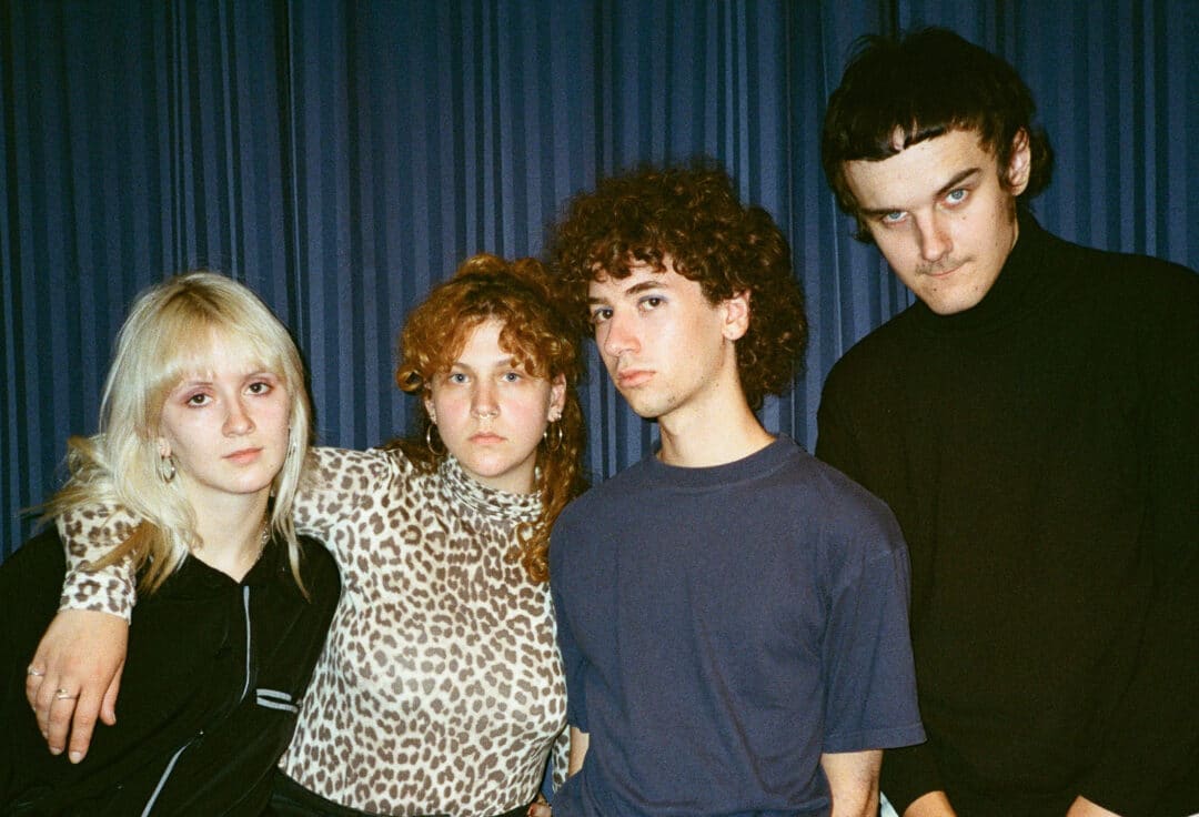
[[[66,549],[59,609],[86,609],[119,615],[126,621],[137,602],[137,571],[131,559],[100,570],[91,563],[123,542],[139,519],[120,507],[77,507],[55,519]]]

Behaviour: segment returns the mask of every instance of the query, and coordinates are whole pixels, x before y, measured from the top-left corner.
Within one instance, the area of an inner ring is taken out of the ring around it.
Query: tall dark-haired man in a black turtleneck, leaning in
[[[824,164],[918,302],[833,368],[817,453],[912,563],[928,741],[905,817],[1199,811],[1199,276],[1022,206],[1050,152],[1016,71],[944,30],[863,41]]]

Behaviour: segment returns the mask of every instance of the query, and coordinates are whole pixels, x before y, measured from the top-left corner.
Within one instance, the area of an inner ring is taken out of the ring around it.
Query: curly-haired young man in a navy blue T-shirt
[[[553,531],[556,817],[876,813],[880,750],[923,738],[908,555],[882,503],[754,415],[805,348],[787,241],[695,164],[578,196],[550,253],[662,440]]]

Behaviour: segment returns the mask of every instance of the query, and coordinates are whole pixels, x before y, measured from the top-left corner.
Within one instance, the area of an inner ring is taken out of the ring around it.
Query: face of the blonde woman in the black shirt
[[[174,457],[198,512],[270,492],[287,458],[291,410],[283,378],[243,346],[215,337],[205,359],[167,396],[158,429],[158,452]]]

